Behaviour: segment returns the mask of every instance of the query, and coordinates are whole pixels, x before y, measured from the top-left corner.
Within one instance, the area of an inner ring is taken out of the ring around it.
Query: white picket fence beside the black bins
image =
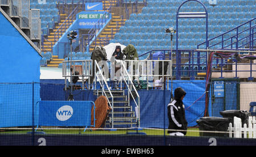
[[[230,138],[256,138],[255,116],[249,116],[248,126],[247,124],[243,124],[242,126],[241,118],[234,117],[234,126],[232,126],[232,123],[229,123],[228,131]]]

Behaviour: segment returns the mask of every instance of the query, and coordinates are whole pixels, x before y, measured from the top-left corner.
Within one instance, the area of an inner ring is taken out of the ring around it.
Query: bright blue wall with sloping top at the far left
[[[40,84],[32,82],[40,82],[42,56],[2,10],[0,21],[0,127],[31,126],[40,100]]]

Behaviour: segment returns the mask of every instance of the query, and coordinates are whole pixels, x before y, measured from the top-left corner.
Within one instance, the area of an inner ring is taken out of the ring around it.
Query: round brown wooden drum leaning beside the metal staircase
[[[108,100],[106,96],[99,96],[95,104],[95,127],[92,128],[101,128],[101,126],[105,123],[106,117],[108,117],[109,111],[111,108],[108,106]],[[94,118],[93,118],[93,108],[92,108],[92,116],[91,116],[91,124],[93,125]]]

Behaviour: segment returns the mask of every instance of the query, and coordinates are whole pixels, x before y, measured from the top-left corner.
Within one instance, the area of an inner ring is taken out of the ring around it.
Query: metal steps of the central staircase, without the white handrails
[[[135,111],[133,111],[133,108],[130,105],[129,96],[126,95],[125,90],[112,90],[110,92],[112,92],[113,95],[113,113],[109,113],[105,126],[112,126],[112,122],[113,126],[136,126],[137,118],[135,116]],[[94,90],[94,95],[101,96],[102,90]],[[106,97],[109,101],[112,101],[112,97],[108,91],[106,91]],[[114,114],[113,117],[112,114]]]

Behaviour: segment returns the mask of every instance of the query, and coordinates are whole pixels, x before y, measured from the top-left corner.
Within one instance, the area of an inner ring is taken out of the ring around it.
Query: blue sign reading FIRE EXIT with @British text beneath
[[[81,11],[77,14],[78,28],[90,29],[97,25],[104,25],[111,14],[106,11]]]

